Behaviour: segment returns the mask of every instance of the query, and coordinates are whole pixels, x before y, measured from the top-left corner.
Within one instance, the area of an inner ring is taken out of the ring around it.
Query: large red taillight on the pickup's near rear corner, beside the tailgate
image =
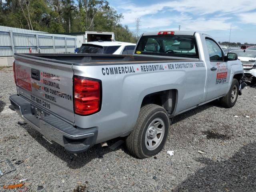
[[[100,82],[74,78],[74,112],[89,115],[100,110]]]

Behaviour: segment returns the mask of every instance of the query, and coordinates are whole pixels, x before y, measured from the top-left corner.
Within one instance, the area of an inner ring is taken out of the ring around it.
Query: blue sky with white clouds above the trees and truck
[[[132,32],[202,31],[216,41],[256,43],[256,0],[108,0]],[[230,35],[231,26],[231,35]]]

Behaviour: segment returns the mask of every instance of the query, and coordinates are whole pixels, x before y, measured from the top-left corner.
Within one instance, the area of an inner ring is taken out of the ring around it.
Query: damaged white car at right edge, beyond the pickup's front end
[[[244,75],[252,83],[256,82],[256,50],[247,48],[246,50],[233,50],[238,55],[238,59],[244,67]]]

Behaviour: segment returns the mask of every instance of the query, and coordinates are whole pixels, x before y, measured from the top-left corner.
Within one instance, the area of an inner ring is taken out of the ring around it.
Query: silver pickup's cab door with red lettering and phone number
[[[224,62],[224,52],[210,36],[205,39],[205,55],[208,68],[208,86],[206,101],[220,97],[228,92],[231,68],[229,62]]]

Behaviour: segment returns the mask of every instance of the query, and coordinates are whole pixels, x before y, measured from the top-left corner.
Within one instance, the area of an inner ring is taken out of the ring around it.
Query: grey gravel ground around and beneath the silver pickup
[[[17,170],[0,177],[0,191],[26,178],[31,192],[256,191],[256,87],[244,89],[231,109],[211,102],[176,116],[162,152],[143,160],[130,156],[124,144],[69,154],[17,124],[22,119],[8,108],[14,93],[12,68],[1,68],[0,160],[11,160]]]

